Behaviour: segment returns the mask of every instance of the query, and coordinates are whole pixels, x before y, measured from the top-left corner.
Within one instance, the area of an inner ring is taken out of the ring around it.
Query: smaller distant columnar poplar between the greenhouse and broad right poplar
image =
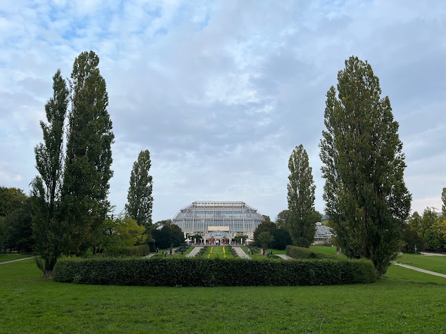
[[[293,238],[293,245],[310,247],[315,240],[315,183],[312,168],[304,146],[293,150],[288,161],[288,210],[290,215],[286,224]]]

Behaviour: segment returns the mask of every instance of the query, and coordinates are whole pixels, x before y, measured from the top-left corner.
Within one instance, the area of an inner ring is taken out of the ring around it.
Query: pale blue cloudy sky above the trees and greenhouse
[[[57,69],[93,50],[115,142],[109,201],[127,202],[148,149],[153,221],[193,201],[287,208],[288,159],[303,144],[323,212],[326,93],[350,56],[389,96],[412,211],[446,187],[446,3],[439,1],[21,1],[0,6],[0,186],[30,190]]]

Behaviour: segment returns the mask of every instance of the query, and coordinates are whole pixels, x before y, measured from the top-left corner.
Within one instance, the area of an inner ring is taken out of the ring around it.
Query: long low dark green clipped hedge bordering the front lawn
[[[370,283],[376,274],[367,260],[66,258],[57,262],[53,279],[95,285],[231,287]]]

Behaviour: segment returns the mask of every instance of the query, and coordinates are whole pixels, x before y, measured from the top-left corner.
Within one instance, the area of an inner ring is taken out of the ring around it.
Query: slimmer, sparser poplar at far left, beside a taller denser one
[[[45,278],[52,276],[52,269],[62,252],[63,230],[57,207],[63,174],[63,124],[69,91],[60,70],[54,74],[53,91],[53,97],[45,104],[47,124],[40,122],[43,143],[34,148],[39,176],[32,181],[35,250],[43,259]]]

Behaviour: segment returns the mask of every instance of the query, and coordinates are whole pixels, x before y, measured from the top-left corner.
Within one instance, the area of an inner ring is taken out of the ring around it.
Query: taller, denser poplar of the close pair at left
[[[69,254],[81,254],[91,245],[109,208],[114,134],[98,64],[94,52],[82,52],[74,60],[71,75],[72,109],[62,194]]]

